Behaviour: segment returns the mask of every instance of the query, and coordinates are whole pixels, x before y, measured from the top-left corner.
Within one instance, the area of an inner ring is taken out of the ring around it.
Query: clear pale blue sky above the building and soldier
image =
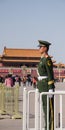
[[[0,54],[5,46],[38,49],[38,40],[65,64],[65,0],[0,0]]]

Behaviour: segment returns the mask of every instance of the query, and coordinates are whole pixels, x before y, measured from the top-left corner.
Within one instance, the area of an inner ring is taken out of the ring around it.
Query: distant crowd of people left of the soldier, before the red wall
[[[21,86],[21,83],[23,86],[33,86],[36,88],[37,86],[37,77],[32,77],[31,75],[20,77],[19,75],[12,75],[8,74],[5,77],[0,75],[0,83],[3,83],[7,87],[13,87],[14,85],[18,84]]]

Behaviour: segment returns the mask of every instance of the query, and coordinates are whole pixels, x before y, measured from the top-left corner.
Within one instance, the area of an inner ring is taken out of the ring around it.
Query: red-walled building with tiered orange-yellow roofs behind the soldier
[[[37,65],[40,61],[38,49],[14,49],[4,47],[0,55],[0,75],[8,73],[20,76],[31,74],[37,76]],[[53,70],[55,79],[65,78],[65,66],[55,64],[53,61]]]

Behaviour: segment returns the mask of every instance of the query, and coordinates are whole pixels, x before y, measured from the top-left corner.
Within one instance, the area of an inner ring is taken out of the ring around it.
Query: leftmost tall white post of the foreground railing
[[[23,90],[23,130],[26,130],[26,123],[27,123],[27,120],[26,120],[26,108],[27,108],[27,105],[26,105],[26,99],[27,99],[27,91],[26,91],[26,88],[24,88]]]

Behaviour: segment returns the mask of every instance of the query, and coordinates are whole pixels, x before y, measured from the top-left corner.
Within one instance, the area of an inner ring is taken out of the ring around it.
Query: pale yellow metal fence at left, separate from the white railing
[[[19,85],[7,87],[0,83],[0,118],[8,115],[12,119],[20,119]]]

